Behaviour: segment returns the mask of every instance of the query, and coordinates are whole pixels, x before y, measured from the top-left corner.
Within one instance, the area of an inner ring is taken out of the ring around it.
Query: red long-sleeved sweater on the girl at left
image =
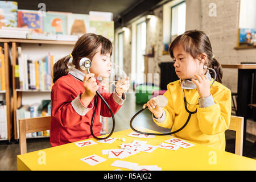
[[[76,99],[76,105],[78,103],[80,107],[82,106],[80,96],[84,91],[85,88],[82,82],[69,74],[60,77],[53,84],[51,92],[50,138],[52,147],[93,137],[90,133],[90,125],[95,109],[93,106],[94,98],[89,104],[85,115],[78,114],[74,109],[74,104],[72,105],[72,101]],[[106,91],[100,93],[105,101],[108,102],[113,113],[117,113],[122,105],[117,104],[116,99],[114,100],[113,94],[115,93],[111,94]],[[117,95],[114,97],[117,98]],[[98,105],[93,122],[93,133],[98,137],[101,131],[100,115],[111,117],[111,114],[101,98],[97,96],[97,99]]]

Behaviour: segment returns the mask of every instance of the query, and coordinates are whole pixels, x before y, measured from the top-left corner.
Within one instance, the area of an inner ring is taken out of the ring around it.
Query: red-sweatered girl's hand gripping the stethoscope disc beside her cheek
[[[96,79],[94,78],[94,73],[86,74],[82,84],[84,84],[85,88],[85,92],[82,94],[84,94],[84,96],[93,98],[96,95],[96,91],[98,90],[98,85]]]

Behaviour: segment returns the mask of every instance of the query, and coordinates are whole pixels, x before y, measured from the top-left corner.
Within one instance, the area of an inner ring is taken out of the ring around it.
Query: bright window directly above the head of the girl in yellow
[[[171,42],[185,32],[186,4],[185,1],[171,7]]]

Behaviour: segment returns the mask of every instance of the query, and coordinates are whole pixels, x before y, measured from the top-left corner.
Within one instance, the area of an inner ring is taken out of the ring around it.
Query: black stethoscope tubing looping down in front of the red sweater
[[[69,74],[69,75],[71,75],[71,74]],[[73,76],[73,75],[71,75],[71,76]],[[76,76],[73,76],[73,77],[75,77],[77,80],[79,80],[79,81],[82,82],[82,80],[79,79],[79,78],[77,78]],[[96,94],[101,98],[101,100],[104,102],[104,104],[108,107],[108,109],[109,109],[109,111],[110,111],[110,114],[112,115],[113,126],[112,126],[111,132],[110,132],[109,135],[108,135],[107,137],[105,137],[105,138],[98,138],[98,137],[96,137],[96,136],[93,134],[93,122],[94,122],[94,117],[95,117],[96,110],[97,110],[97,105],[98,105],[97,96],[94,96],[94,108],[95,108],[95,109],[94,109],[94,112],[93,112],[92,123],[91,123],[91,125],[90,125],[90,133],[93,135],[93,138],[95,138],[95,139],[97,139],[97,140],[104,140],[104,139],[109,138],[109,137],[113,134],[113,132],[114,132],[114,129],[115,129],[115,117],[114,117],[113,111],[110,109],[108,103],[104,100],[104,98],[101,96],[101,94],[100,94],[98,91],[96,91]]]

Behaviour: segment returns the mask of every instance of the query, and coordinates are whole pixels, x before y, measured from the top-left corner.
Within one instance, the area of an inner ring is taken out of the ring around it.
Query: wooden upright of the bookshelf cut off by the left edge
[[[9,44],[6,40],[0,41],[1,46],[3,44],[3,54],[4,54],[4,61],[5,61],[5,90],[2,90],[0,94],[4,94],[5,101],[6,101],[6,120],[7,120],[7,139],[1,140],[8,140],[9,143],[11,141],[11,92],[10,92],[10,64],[9,64]]]

